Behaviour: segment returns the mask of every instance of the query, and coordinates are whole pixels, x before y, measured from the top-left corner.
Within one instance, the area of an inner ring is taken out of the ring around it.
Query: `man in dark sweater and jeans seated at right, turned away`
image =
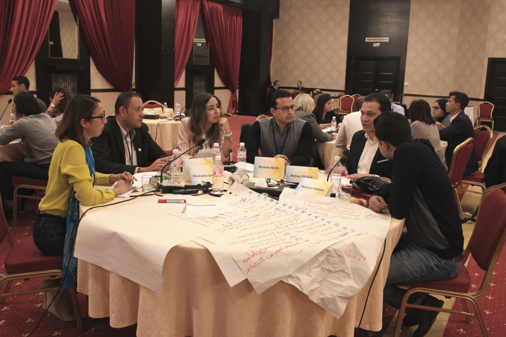
[[[411,109],[409,109],[411,112]],[[387,209],[405,220],[390,258],[383,299],[399,309],[406,290],[395,284],[451,278],[461,267],[464,236],[453,187],[446,170],[427,139],[415,139],[406,118],[386,112],[374,119],[376,139],[383,156],[393,162],[392,184],[369,199],[369,209]],[[437,188],[435,188],[437,186]],[[408,303],[442,308],[444,301],[415,293]],[[402,315],[404,313],[399,313]],[[437,311],[411,309],[402,321],[418,325],[414,337],[425,336]]]

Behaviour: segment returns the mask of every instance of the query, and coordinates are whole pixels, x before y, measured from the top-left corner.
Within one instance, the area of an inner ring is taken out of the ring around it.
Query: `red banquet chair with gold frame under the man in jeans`
[[[484,192],[478,206],[476,224],[462,259],[462,266],[454,277],[430,282],[396,284],[398,287],[407,290],[402,299],[399,313],[404,312],[406,307],[408,307],[463,315],[466,316],[469,323],[472,323],[472,317],[476,317],[483,336],[488,337],[487,327],[485,326],[477,298],[485,294],[495,264],[506,241],[506,194],[504,187],[506,187],[506,183],[490,187]],[[465,266],[470,255],[473,256],[478,267],[485,271],[481,285],[475,292],[470,292],[471,278]],[[464,311],[407,304],[409,296],[414,293],[459,298]],[[472,314],[469,311],[466,300],[469,300],[473,304],[476,314]],[[399,314],[394,337],[399,336],[402,319],[403,315]]]

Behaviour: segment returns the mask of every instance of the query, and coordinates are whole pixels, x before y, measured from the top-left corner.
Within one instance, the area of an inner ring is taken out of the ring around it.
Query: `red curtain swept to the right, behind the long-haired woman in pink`
[[[237,83],[241,58],[242,10],[202,1],[205,39],[209,43],[216,71],[225,86],[232,91],[227,111],[237,111]]]

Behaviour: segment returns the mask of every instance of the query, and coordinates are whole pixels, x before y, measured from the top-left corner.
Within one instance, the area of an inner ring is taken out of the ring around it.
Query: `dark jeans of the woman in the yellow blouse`
[[[40,213],[37,211],[33,223],[33,242],[45,255],[63,255],[67,217]]]

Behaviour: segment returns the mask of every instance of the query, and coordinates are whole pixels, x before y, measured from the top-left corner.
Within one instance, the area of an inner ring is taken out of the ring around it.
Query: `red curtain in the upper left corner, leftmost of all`
[[[26,74],[44,41],[57,0],[0,1],[0,94]]]

